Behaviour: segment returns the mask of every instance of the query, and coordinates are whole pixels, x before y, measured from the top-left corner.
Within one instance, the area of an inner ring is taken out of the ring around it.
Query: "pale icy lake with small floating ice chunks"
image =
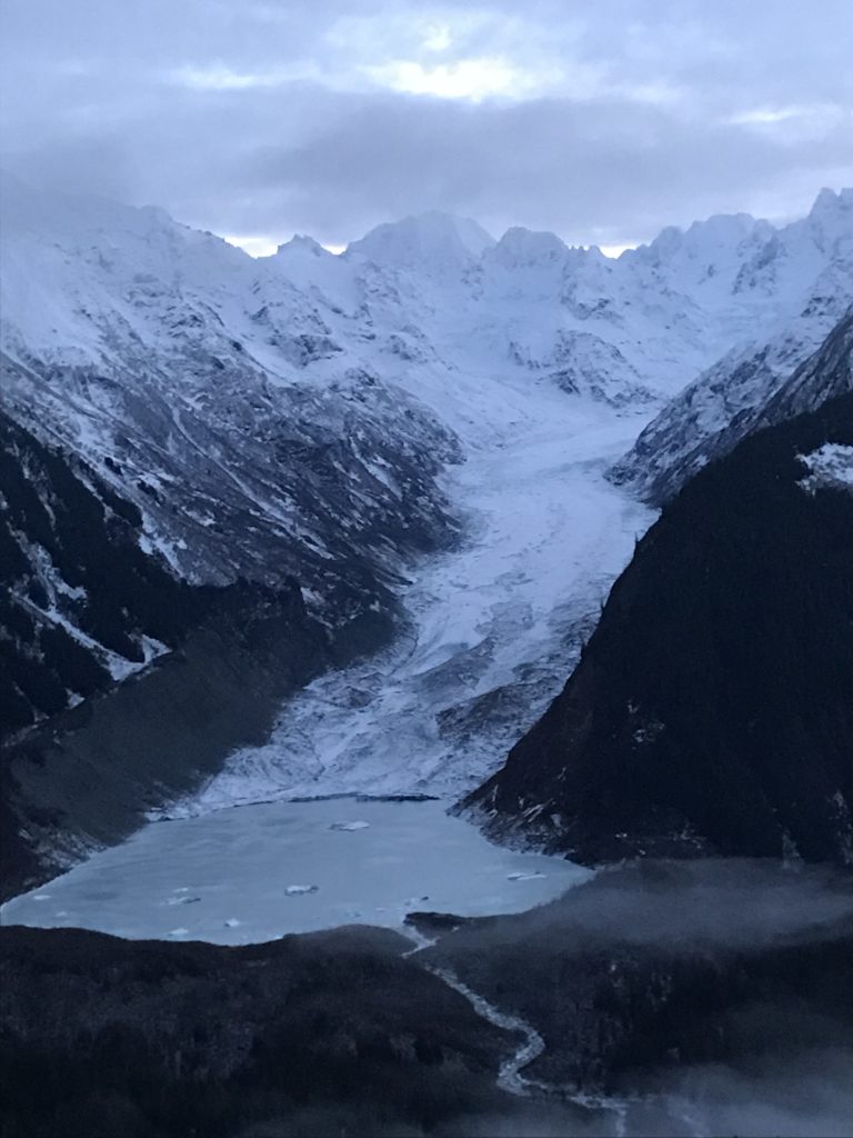
[[[399,927],[414,910],[517,913],[590,876],[562,858],[492,846],[446,807],[339,798],[155,823],[0,916],[246,945],[341,924]]]

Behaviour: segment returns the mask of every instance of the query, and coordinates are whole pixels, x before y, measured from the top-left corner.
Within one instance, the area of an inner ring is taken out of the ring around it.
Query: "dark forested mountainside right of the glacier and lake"
[[[587,864],[853,864],[851,447],[844,396],[664,509],[563,693],[465,801],[487,833]]]

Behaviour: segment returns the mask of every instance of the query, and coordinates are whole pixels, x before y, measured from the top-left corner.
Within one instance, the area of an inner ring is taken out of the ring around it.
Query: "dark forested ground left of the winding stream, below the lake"
[[[2,930],[3,1133],[458,1133],[511,1105],[495,1074],[515,1040],[406,945],[358,927],[245,948]]]

